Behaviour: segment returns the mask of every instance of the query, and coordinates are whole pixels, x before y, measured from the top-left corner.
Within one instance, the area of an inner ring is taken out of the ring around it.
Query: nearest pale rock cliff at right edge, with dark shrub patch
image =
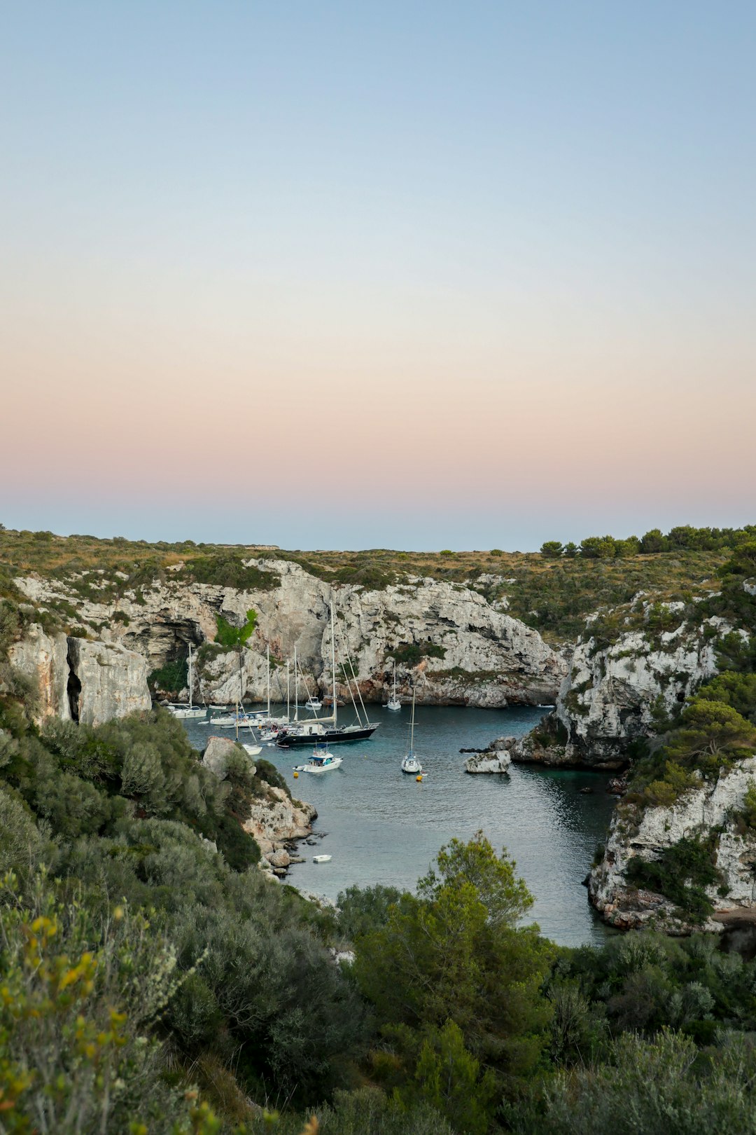
[[[720,774],[714,783],[700,781],[672,807],[621,805],[614,815],[604,858],[591,872],[588,893],[612,925],[627,930],[655,926],[670,933],[694,927],[676,914],[673,902],[652,891],[631,886],[626,872],[635,856],[659,859],[681,839],[715,834],[714,866],[720,880],[706,888],[715,915],[704,928],[721,931],[744,918],[756,905],[756,833],[738,822],[744,798],[756,776],[756,756]]]

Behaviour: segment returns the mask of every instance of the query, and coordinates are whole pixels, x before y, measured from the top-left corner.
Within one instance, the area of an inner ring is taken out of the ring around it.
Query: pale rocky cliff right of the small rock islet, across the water
[[[665,604],[668,620],[682,604]],[[646,605],[646,613],[649,605]],[[717,672],[716,640],[730,628],[717,617],[652,632],[634,628],[601,646],[588,622],[562,681],[553,714],[512,747],[513,760],[620,768],[628,748],[655,732],[654,712],[670,713]]]

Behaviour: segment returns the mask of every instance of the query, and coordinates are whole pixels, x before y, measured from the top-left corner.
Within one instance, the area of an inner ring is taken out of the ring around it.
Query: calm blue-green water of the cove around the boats
[[[430,774],[418,784],[399,768],[409,708],[368,708],[381,728],[369,741],[334,746],[345,760],[333,772],[303,773],[295,781],[291,766],[303,763],[307,749],[263,750],[292,794],[315,805],[314,830],[326,833],[316,847],[301,844],[307,861],[291,868],[291,883],[330,899],[352,883],[411,890],[442,843],[452,836],[467,839],[482,827],[495,847],[506,847],[516,859],[536,898],[534,918],[547,938],[563,945],[603,941],[605,928],[581,880],[609,826],[613,798],[605,792],[606,775],[524,765],[513,765],[509,776],[464,772],[460,748],[483,748],[495,737],[526,733],[543,711],[418,707],[415,747]],[[345,711],[345,723],[350,720]],[[207,728],[185,725],[202,748]],[[580,793],[585,787],[593,793]],[[331,855],[331,861],[312,863],[320,852]]]

